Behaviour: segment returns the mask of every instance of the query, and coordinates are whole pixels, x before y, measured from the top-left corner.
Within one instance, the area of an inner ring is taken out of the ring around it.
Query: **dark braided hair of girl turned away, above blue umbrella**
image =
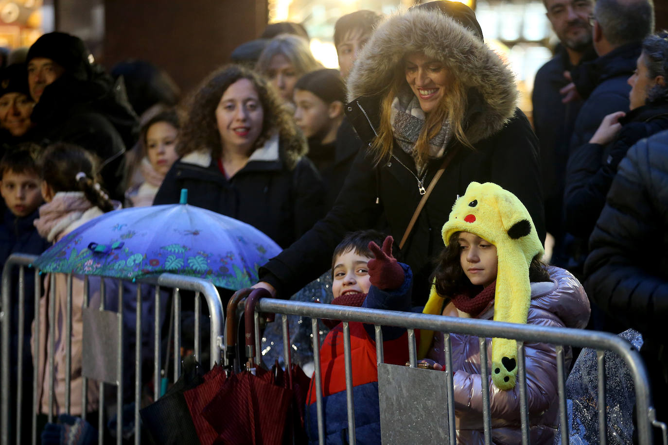
[[[98,161],[96,157],[70,143],[54,143],[46,147],[39,158],[41,178],[53,189],[59,191],[83,191],[83,195],[100,210],[114,209],[114,204],[97,180]]]

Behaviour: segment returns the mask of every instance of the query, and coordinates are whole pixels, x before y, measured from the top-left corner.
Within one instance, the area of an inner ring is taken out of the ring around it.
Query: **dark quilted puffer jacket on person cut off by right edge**
[[[668,418],[666,208],[668,131],[661,131],[631,147],[619,164],[585,265],[587,295],[612,319],[609,329],[643,334],[641,354],[663,422]]]

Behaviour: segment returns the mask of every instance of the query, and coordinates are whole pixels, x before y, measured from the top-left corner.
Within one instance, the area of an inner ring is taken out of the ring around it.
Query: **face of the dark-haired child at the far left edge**
[[[42,203],[40,180],[35,173],[7,170],[0,181],[0,193],[15,216],[33,213]]]

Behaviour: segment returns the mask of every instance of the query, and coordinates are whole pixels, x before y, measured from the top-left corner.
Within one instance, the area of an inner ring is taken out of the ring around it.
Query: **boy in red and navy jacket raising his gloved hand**
[[[332,304],[371,309],[411,309],[413,275],[405,264],[392,256],[391,236],[383,249],[383,236],[373,230],[353,232],[337,246],[333,255]],[[343,358],[343,323],[329,322],[332,330],[320,350],[325,442],[347,443],[348,421]],[[355,439],[360,444],[379,444],[380,412],[378,372],[373,326],[349,322],[355,406]],[[404,329],[383,327],[385,363],[403,365],[408,360]],[[307,396],[307,431],[311,443],[318,442],[315,378]]]

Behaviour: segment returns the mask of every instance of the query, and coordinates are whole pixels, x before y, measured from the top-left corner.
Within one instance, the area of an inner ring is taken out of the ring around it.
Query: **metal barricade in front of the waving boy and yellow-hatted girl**
[[[417,366],[417,348],[415,344],[415,329],[433,330],[444,332],[446,365],[452,369],[452,350],[450,347],[450,333],[468,334],[480,338],[480,361],[487,363],[486,338],[510,338],[517,340],[518,344],[518,385],[520,385],[520,419],[522,424],[522,444],[529,443],[529,420],[526,394],[526,368],[524,363],[523,342],[543,342],[554,344],[556,347],[557,375],[558,375],[558,402],[561,443],[568,445],[569,431],[566,414],[566,368],[564,364],[564,346],[577,346],[580,348],[593,348],[597,350],[598,364],[598,406],[605,406],[605,368],[603,364],[603,352],[611,351],[618,354],[633,376],[635,386],[636,410],[637,410],[637,433],[639,444],[649,445],[653,443],[653,427],[661,428],[664,441],[666,440],[665,424],[658,422],[655,418],[655,410],[651,404],[651,393],[649,391],[649,378],[645,364],[637,350],[629,342],[606,332],[589,330],[554,328],[534,326],[526,324],[511,324],[493,322],[491,320],[472,320],[466,318],[450,318],[436,315],[415,314],[409,312],[395,312],[388,310],[371,310],[366,308],[353,308],[349,306],[335,306],[329,304],[317,304],[307,302],[293,302],[287,300],[275,300],[263,298],[255,306],[255,362],[261,362],[259,314],[282,315],[283,344],[289,343],[288,315],[310,317],[313,333],[313,358],[315,361],[315,390],[317,403],[317,422],[319,443],[325,443],[325,430],[323,418],[323,396],[321,392],[322,378],[320,362],[320,332],[317,324],[319,318],[343,321],[344,358],[345,358],[345,382],[347,393],[347,418],[348,418],[348,441],[355,443],[355,418],[353,406],[353,377],[351,368],[350,332],[349,322],[363,322],[375,326],[375,343],[377,364],[383,364],[383,338],[381,326],[398,326],[406,328],[408,333],[409,364],[411,368]],[[285,363],[290,363],[290,348],[283,348]],[[452,372],[446,372],[447,386],[444,397],[447,398],[448,412],[448,438],[450,444],[456,443],[455,409],[454,409],[454,384]],[[482,367],[482,381],[487,381],[486,366]],[[490,394],[487,385],[482,385],[482,396],[484,400],[483,421],[484,440],[486,444],[492,442]],[[599,438],[600,444],[606,443],[607,422],[606,410],[599,409]]]

